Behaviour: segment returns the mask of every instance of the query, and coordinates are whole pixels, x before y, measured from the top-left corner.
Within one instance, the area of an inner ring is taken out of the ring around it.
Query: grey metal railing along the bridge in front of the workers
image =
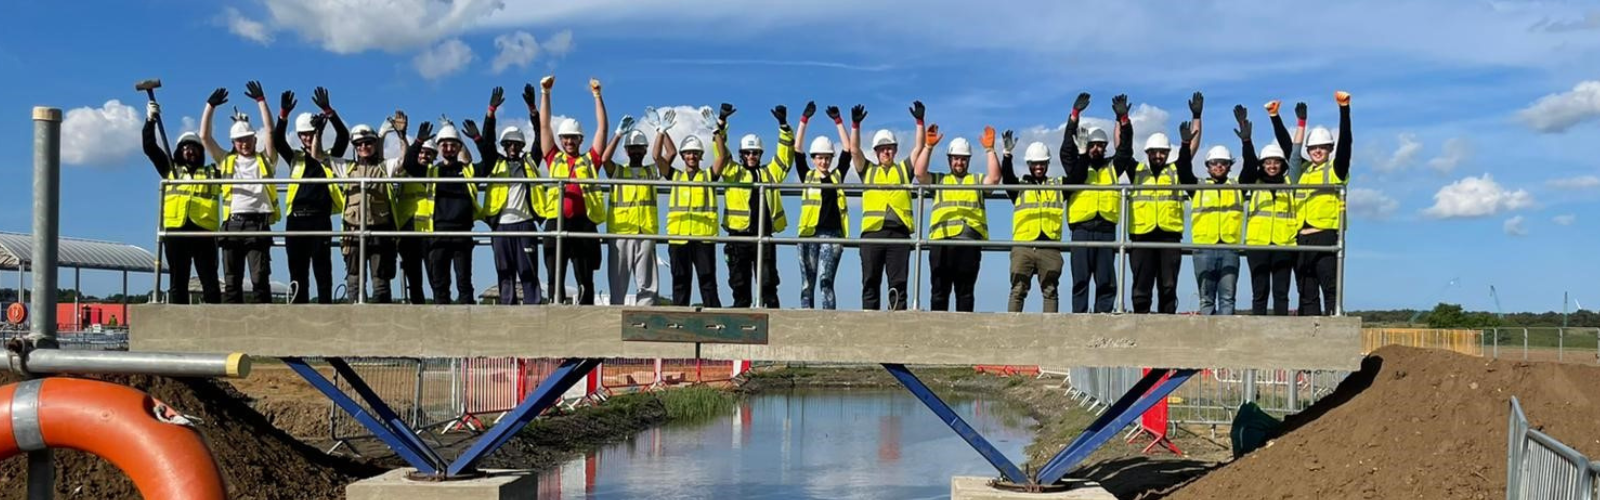
[[[480,186],[482,184],[554,184],[558,192],[563,192],[565,188],[566,188],[566,184],[595,186],[597,189],[602,189],[602,191],[614,189],[614,186],[656,186],[658,194],[659,192],[666,192],[669,196],[670,196],[670,188],[674,188],[674,186],[691,186],[691,188],[693,186],[699,186],[699,188],[712,188],[712,189],[722,189],[722,191],[726,191],[726,189],[755,189],[754,199],[755,199],[757,208],[754,210],[754,213],[765,213],[765,208],[766,208],[766,191],[768,189],[778,189],[781,196],[792,197],[792,196],[802,194],[803,189],[806,189],[806,188],[814,188],[814,184],[800,184],[800,183],[720,183],[720,181],[717,181],[717,183],[693,183],[693,181],[666,181],[666,179],[566,179],[566,178],[557,178],[557,179],[552,179],[552,178],[536,178],[536,179],[518,179],[518,178],[162,179],[158,183],[158,186],[157,186],[157,204],[155,204],[157,205],[157,221],[158,221],[157,223],[157,232],[155,232],[155,237],[157,237],[155,255],[157,255],[157,258],[162,256],[162,245],[165,244],[165,239],[168,239],[168,237],[213,237],[216,234],[222,234],[221,231],[219,232],[210,232],[210,231],[166,231],[165,228],[162,228],[160,221],[163,220],[163,215],[165,215],[163,213],[165,204],[162,202],[163,200],[162,197],[165,196],[168,186],[179,186],[179,184],[272,184],[272,186],[288,186],[288,184],[357,184],[362,192],[368,192],[366,188],[368,188],[368,184],[373,184],[373,183],[378,183],[378,184],[394,184],[394,186],[402,186],[402,184],[430,184],[430,183],[434,183],[434,184],[480,184]],[[1136,250],[1136,248],[1179,248],[1179,250],[1234,250],[1234,252],[1243,252],[1243,250],[1266,250],[1266,248],[1270,248],[1270,250],[1282,250],[1282,252],[1328,252],[1328,253],[1334,253],[1334,258],[1336,258],[1336,279],[1334,279],[1334,282],[1336,282],[1336,287],[1334,287],[1334,290],[1336,290],[1334,304],[1336,306],[1334,306],[1334,311],[1331,311],[1331,314],[1334,314],[1334,316],[1342,316],[1344,314],[1344,288],[1346,288],[1344,287],[1344,256],[1346,256],[1346,252],[1344,252],[1346,250],[1346,231],[1344,229],[1346,229],[1347,213],[1341,213],[1341,216],[1339,216],[1339,228],[1336,228],[1339,237],[1338,237],[1336,245],[1331,245],[1331,247],[1326,247],[1326,245],[1322,245],[1322,247],[1314,247],[1314,245],[1251,247],[1251,245],[1227,245],[1227,244],[1200,245],[1200,244],[1181,244],[1181,242],[1176,242],[1176,244],[1174,242],[1134,242],[1134,240],[1131,240],[1131,234],[1130,234],[1131,224],[1126,223],[1126,220],[1131,218],[1131,213],[1133,213],[1133,210],[1131,210],[1131,207],[1133,207],[1133,192],[1134,191],[1152,191],[1154,189],[1152,186],[1144,186],[1144,184],[1115,184],[1115,186],[1088,186],[1088,184],[1072,184],[1072,186],[1066,186],[1066,184],[992,184],[992,186],[982,186],[982,184],[979,184],[979,186],[963,186],[963,184],[859,184],[859,183],[858,184],[827,184],[827,186],[829,186],[829,189],[840,189],[842,196],[859,194],[859,192],[866,192],[866,191],[910,191],[910,196],[917,199],[917,207],[915,207],[917,215],[914,216],[914,221],[909,221],[912,226],[915,226],[914,229],[922,229],[928,223],[928,199],[933,197],[933,194],[936,194],[939,191],[982,191],[982,192],[986,192],[984,199],[987,199],[987,200],[1008,200],[1008,197],[1003,194],[1003,192],[1008,192],[1008,191],[1059,191],[1059,192],[1067,192],[1069,194],[1069,196],[1062,196],[1062,208],[1066,208],[1066,205],[1067,205],[1066,199],[1069,199],[1072,192],[1082,192],[1082,191],[1115,191],[1120,196],[1120,204],[1122,204],[1122,212],[1120,213],[1123,215],[1122,218],[1125,221],[1120,221],[1117,224],[1117,228],[1118,228],[1117,229],[1117,240],[1114,240],[1114,242],[1075,242],[1075,240],[1053,240],[1053,242],[1030,240],[1030,242],[1018,242],[1018,240],[994,240],[994,239],[990,239],[990,240],[930,239],[928,237],[928,231],[912,231],[912,237],[910,239],[861,239],[861,237],[850,239],[850,237],[786,237],[786,236],[765,236],[768,232],[766,231],[768,229],[766,228],[768,221],[763,216],[755,216],[754,218],[757,221],[755,236],[709,236],[709,237],[696,237],[696,236],[667,236],[667,234],[608,234],[608,232],[600,232],[600,231],[595,231],[595,232],[571,232],[571,231],[566,231],[566,228],[565,228],[565,218],[562,218],[562,216],[552,218],[554,223],[555,223],[554,224],[555,228],[546,228],[546,231],[494,231],[494,232],[483,232],[483,231],[435,231],[435,232],[370,231],[368,226],[366,226],[366,210],[362,210],[358,224],[355,228],[357,231],[342,231],[342,229],[339,229],[339,231],[227,231],[226,236],[232,236],[232,237],[285,237],[285,236],[354,237],[354,239],[358,240],[360,255],[366,255],[366,239],[370,239],[370,237],[490,237],[490,236],[554,237],[557,240],[557,244],[555,244],[557,276],[565,276],[566,274],[565,272],[566,260],[562,255],[565,252],[565,245],[563,245],[565,239],[642,239],[642,240],[656,240],[656,242],[664,242],[664,240],[696,240],[696,242],[718,242],[718,244],[730,244],[730,242],[752,244],[754,242],[754,244],[776,244],[776,245],[840,244],[840,245],[846,245],[846,247],[859,247],[859,245],[867,245],[867,244],[877,244],[877,245],[910,245],[912,250],[915,252],[915,256],[910,260],[912,266],[914,266],[912,272],[910,272],[910,284],[912,285],[910,285],[910,290],[909,290],[909,293],[910,293],[910,308],[912,309],[920,309],[920,306],[922,306],[922,287],[917,285],[917,284],[922,284],[923,282],[923,276],[925,276],[923,266],[925,266],[926,260],[922,256],[922,253],[923,253],[925,248],[931,248],[931,247],[981,247],[984,252],[1008,252],[1010,248],[1014,248],[1014,247],[1062,248],[1062,250],[1069,250],[1069,252],[1072,248],[1115,248],[1117,250],[1117,258],[1115,260],[1117,260],[1117,269],[1118,269],[1117,271],[1118,300],[1115,303],[1115,312],[1125,312],[1125,311],[1128,311],[1128,304],[1126,304],[1126,301],[1128,301],[1128,293],[1126,293],[1128,287],[1126,287],[1126,284],[1131,280],[1128,277],[1128,271],[1130,271],[1128,250]],[[282,188],[280,188],[280,191],[282,191]],[[1317,191],[1317,192],[1325,192],[1325,191],[1333,191],[1339,197],[1341,207],[1346,204],[1346,186],[1344,184],[1248,184],[1248,186],[1246,184],[1173,184],[1173,186],[1160,186],[1158,191],[1186,191],[1186,192],[1197,192],[1197,191],[1246,191],[1246,192],[1259,192],[1259,191],[1291,191],[1291,192],[1293,191]],[[715,196],[715,192],[714,192],[714,196]],[[1240,197],[1240,199],[1243,199],[1243,197]],[[1250,226],[1250,210],[1246,210],[1246,207],[1240,207],[1240,212],[1243,212],[1243,218],[1245,218],[1242,228],[1248,228]],[[342,220],[342,215],[330,213],[328,216],[341,216],[341,220]],[[1187,220],[1186,220],[1186,226],[1187,226]],[[1240,234],[1240,240],[1243,240],[1243,234]],[[486,244],[483,240],[475,240],[475,242],[477,244]],[[334,244],[338,245],[339,242],[334,242]],[[757,252],[755,255],[757,255],[755,256],[757,258],[757,263],[755,263],[757,266],[755,266],[754,290],[758,295],[760,290],[762,290],[763,279],[765,279],[763,269],[762,269],[763,268],[762,264],[763,264],[763,260],[765,260],[765,253],[763,252]],[[366,260],[360,258],[357,261],[358,261],[358,276],[360,276],[358,277],[358,287],[362,287],[362,293],[357,293],[357,301],[363,303],[365,296],[366,296],[366,292],[365,292],[366,290]],[[155,272],[154,276],[155,276],[155,287],[154,287],[154,290],[157,290],[155,295],[158,295],[160,293],[158,290],[162,290],[162,287],[160,287],[162,285],[162,274]],[[555,290],[552,290],[552,293],[555,296],[555,301],[560,303],[563,300],[563,295],[565,295],[565,287],[557,287]],[[152,295],[152,298],[154,298],[154,295]],[[760,301],[757,301],[757,303],[760,303]]]

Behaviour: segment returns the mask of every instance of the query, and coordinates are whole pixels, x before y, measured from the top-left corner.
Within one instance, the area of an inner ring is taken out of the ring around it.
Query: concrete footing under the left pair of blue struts
[[[538,479],[531,471],[488,471],[488,476],[459,481],[411,481],[413,468],[350,482],[347,500],[534,500]]]

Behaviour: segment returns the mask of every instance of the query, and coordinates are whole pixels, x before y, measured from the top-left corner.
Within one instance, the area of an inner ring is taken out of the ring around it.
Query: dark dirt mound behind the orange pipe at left
[[[213,380],[163,377],[96,377],[150,393],[174,409],[198,417],[200,433],[216,455],[229,486],[229,498],[344,498],[350,481],[382,470],[330,457],[272,426],[234,388]],[[0,385],[18,381],[0,375]],[[0,498],[24,498],[27,460],[0,463]],[[141,498],[133,482],[109,462],[74,452],[56,452],[56,498]]]

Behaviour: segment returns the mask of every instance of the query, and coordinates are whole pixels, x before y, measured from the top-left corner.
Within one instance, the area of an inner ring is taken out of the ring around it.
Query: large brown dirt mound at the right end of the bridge
[[[1166,498],[1504,498],[1512,396],[1600,455],[1600,367],[1382,348],[1290,433]]]

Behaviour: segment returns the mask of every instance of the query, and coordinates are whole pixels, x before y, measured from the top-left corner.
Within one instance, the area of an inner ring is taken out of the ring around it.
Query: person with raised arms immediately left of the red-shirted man
[[[538,115],[538,107],[531,104],[533,87],[523,88],[523,101],[528,101],[528,112]],[[485,171],[488,178],[536,179],[544,176],[539,171],[539,155],[526,152],[528,139],[517,127],[506,127],[499,131],[499,147],[494,147],[496,117],[494,111],[506,103],[504,88],[496,87],[490,93],[490,109],[483,114],[483,133],[470,120],[467,136],[478,146],[483,160],[474,167],[474,173]],[[533,131],[534,139],[539,133]],[[534,232],[539,231],[541,215],[549,215],[544,184],[486,184],[483,194],[483,221],[494,232]],[[499,282],[499,303],[515,304],[517,293],[522,292],[523,304],[542,301],[539,293],[539,240],[530,236],[494,236],[490,239],[494,250],[494,276]],[[522,284],[518,290],[517,284]]]

